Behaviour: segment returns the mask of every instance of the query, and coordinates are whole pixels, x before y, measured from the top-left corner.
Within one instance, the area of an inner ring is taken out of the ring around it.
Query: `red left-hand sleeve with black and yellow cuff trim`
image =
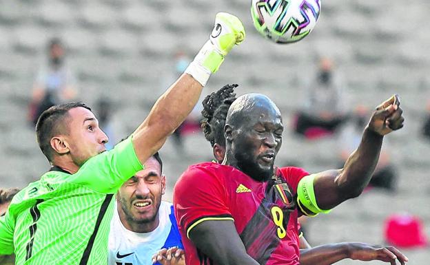
[[[174,188],[175,214],[179,226],[190,231],[207,220],[233,220],[227,206],[227,191],[214,171],[189,169]]]

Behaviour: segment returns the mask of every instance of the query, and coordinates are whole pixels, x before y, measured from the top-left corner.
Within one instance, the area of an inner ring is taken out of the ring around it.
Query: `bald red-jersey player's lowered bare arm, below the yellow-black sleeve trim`
[[[190,240],[216,264],[258,265],[247,254],[231,220],[201,222],[190,231]]]

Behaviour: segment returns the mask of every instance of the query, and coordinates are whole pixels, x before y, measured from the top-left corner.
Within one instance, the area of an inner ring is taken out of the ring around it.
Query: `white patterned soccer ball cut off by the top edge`
[[[275,43],[305,38],[320,16],[321,0],[252,0],[256,30]]]

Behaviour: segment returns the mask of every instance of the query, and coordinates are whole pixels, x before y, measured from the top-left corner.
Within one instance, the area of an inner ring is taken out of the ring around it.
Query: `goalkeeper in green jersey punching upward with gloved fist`
[[[19,192],[0,219],[0,255],[17,264],[106,264],[114,193],[143,169],[196,104],[209,76],[245,38],[242,23],[218,13],[209,41],[127,140],[105,151],[107,136],[83,103],[51,107],[37,141],[52,168]]]

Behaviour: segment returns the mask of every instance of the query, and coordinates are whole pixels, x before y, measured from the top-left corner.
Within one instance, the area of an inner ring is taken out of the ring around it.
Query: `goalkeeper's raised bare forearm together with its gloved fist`
[[[149,116],[133,133],[134,150],[142,164],[190,114],[210,74],[218,70],[232,47],[244,38],[245,30],[237,17],[227,13],[216,15],[209,41],[178,81],[158,98]]]

